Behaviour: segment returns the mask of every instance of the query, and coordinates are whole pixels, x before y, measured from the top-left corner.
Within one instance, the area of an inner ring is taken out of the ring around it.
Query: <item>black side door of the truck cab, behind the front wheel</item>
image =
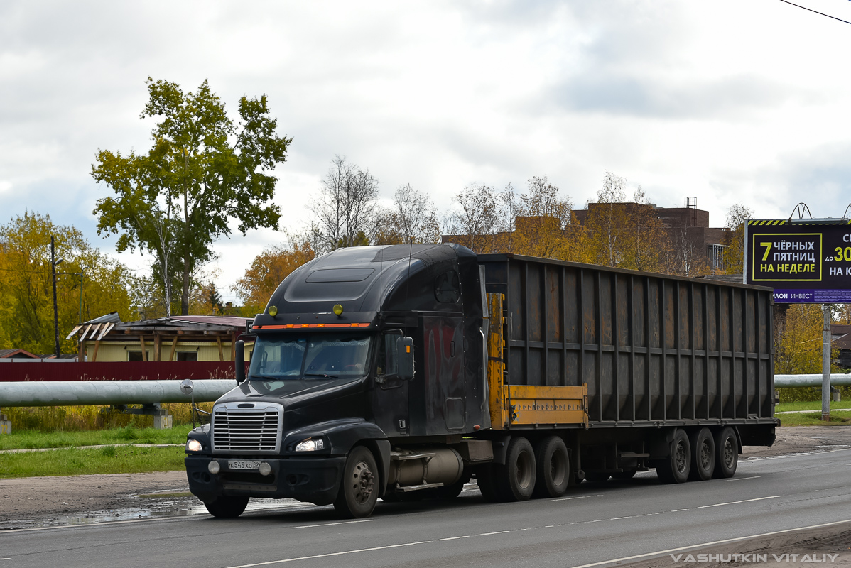
[[[390,330],[379,337],[375,358],[373,414],[375,424],[389,437],[410,433],[408,381],[396,375],[396,339],[401,330]]]

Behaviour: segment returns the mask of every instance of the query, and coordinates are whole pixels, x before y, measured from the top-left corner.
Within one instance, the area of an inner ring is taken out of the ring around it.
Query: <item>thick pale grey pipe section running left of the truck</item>
[[[213,402],[237,386],[235,379],[193,381],[196,402]],[[3,406],[86,406],[190,402],[180,381],[22,381],[0,383]]]

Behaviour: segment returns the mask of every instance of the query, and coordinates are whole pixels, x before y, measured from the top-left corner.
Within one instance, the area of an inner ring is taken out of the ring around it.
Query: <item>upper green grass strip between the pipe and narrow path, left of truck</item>
[[[83,432],[33,432],[12,430],[12,434],[0,435],[0,450],[31,448],[68,448],[74,446],[102,446],[105,444],[185,444],[189,425],[173,429],[113,428]]]

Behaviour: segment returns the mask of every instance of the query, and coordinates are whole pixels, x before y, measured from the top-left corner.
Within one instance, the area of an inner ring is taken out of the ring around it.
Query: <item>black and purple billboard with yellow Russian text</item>
[[[749,219],[745,284],[778,304],[851,304],[851,221]]]

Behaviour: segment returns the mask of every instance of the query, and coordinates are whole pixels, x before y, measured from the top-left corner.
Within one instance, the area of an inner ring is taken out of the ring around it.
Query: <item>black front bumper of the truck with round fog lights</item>
[[[271,474],[228,469],[228,459],[260,459],[271,466]],[[217,461],[218,474],[210,474],[208,463]],[[220,495],[267,497],[328,505],[340,491],[340,477],[346,457],[257,457],[186,456],[189,491],[203,502]]]

